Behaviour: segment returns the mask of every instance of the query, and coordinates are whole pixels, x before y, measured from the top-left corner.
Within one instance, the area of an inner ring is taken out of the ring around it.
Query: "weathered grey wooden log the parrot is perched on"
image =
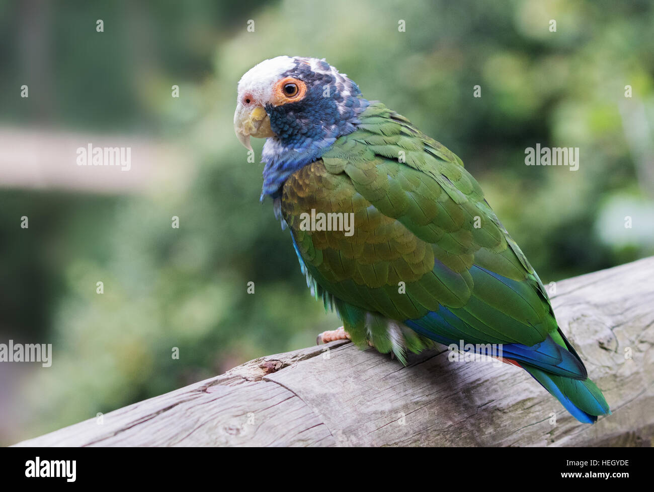
[[[562,330],[613,415],[576,421],[525,371],[403,367],[349,342],[250,360],[226,374],[16,446],[651,446],[654,258],[557,283]]]

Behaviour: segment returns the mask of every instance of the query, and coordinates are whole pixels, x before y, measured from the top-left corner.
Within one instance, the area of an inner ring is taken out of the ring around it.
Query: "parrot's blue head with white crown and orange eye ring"
[[[324,60],[278,56],[262,61],[238,85],[234,130],[241,143],[267,138],[264,195],[355,130],[366,107],[358,86]]]

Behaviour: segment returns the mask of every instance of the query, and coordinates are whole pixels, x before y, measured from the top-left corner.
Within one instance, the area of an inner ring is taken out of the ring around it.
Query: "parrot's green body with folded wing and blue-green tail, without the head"
[[[280,203],[307,281],[353,342],[402,362],[405,349],[431,340],[543,347],[538,360],[521,359],[534,378],[582,421],[592,418],[579,408],[610,413],[538,275],[461,160],[381,103],[360,121],[284,183]],[[354,234],[303,230],[312,209],[352,213]]]

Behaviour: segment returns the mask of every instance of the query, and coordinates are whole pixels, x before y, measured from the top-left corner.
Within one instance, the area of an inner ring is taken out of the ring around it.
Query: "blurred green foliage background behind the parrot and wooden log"
[[[233,135],[254,64],[326,58],[410,118],[464,160],[549,282],[654,254],[652,39],[649,1],[0,3],[0,124],[148,135],[184,149],[194,176],[141,195],[0,189],[0,342],[54,345],[52,368],[0,377],[0,444],[338,326]],[[649,128],[634,139],[638,111]],[[579,147],[579,170],[525,166],[536,143]]]

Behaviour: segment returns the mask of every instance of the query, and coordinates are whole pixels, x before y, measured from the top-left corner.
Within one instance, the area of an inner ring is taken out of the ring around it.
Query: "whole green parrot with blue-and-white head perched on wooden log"
[[[580,422],[610,415],[538,274],[453,152],[318,58],[252,67],[233,124],[250,151],[250,137],[266,139],[260,200],[343,323],[322,342],[349,339],[405,365],[436,343],[498,345]]]

